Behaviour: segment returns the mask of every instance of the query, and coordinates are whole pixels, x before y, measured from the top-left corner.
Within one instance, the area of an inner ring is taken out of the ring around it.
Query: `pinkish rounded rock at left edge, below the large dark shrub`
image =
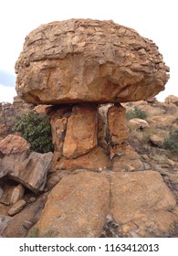
[[[14,134],[6,136],[5,139],[0,142],[0,152],[3,155],[22,154],[28,151],[29,148],[30,144],[28,144],[24,138]]]

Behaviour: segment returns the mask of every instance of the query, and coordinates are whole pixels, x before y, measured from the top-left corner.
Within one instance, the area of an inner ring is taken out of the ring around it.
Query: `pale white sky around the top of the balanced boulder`
[[[112,19],[152,39],[170,67],[171,78],[159,101],[178,96],[176,0],[1,0],[0,102],[16,96],[15,63],[25,37],[41,24],[69,18]]]

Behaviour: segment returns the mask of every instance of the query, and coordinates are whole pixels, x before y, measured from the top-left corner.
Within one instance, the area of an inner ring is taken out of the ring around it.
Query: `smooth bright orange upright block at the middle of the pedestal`
[[[67,133],[64,140],[63,155],[76,158],[97,146],[97,107],[76,105],[68,117]]]

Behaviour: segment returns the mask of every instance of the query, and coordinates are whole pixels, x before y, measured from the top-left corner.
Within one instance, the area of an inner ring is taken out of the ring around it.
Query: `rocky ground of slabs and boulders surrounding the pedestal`
[[[123,106],[131,146],[110,168],[54,172],[52,153],[1,133],[0,236],[178,237],[178,155],[163,146],[178,129],[178,100]],[[131,118],[135,107],[147,116]]]

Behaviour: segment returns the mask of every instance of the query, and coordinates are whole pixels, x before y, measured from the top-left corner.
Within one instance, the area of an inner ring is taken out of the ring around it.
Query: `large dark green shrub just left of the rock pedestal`
[[[47,114],[27,112],[16,118],[14,132],[19,132],[31,144],[31,151],[53,151],[51,126]]]

